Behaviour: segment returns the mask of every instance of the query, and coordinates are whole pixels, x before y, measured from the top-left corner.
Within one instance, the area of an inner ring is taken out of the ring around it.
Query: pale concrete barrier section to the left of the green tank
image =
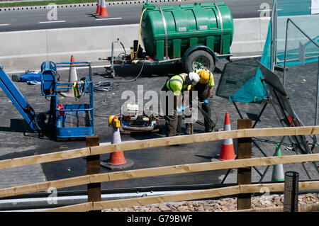
[[[130,30],[128,35],[125,30]],[[135,31],[135,34],[132,32]],[[74,55],[77,62],[98,62],[111,56],[111,42],[121,40],[126,51],[138,38],[138,24],[125,26],[98,26],[26,30],[0,33],[0,64],[6,72],[39,69],[43,61],[69,62]],[[123,52],[118,46],[117,53]]]

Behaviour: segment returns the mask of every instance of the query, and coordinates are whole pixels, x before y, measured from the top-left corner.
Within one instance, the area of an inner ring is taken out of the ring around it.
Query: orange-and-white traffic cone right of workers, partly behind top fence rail
[[[225,113],[225,123],[224,123],[224,131],[231,130],[230,128],[230,119],[229,113]],[[234,152],[233,139],[223,140],[223,143],[220,148],[219,160],[233,160],[236,155]]]

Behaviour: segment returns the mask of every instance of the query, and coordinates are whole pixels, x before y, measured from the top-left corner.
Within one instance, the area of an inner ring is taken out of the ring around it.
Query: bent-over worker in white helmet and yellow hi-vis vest
[[[164,84],[162,91],[166,91],[166,96],[161,95],[161,106],[165,118],[165,128],[167,137],[179,135],[181,133],[181,112],[185,110],[184,101],[188,96],[184,96],[184,91],[190,91],[199,81],[199,75],[196,72],[189,74],[181,73],[174,75]],[[172,91],[172,95],[167,95]],[[188,92],[187,92],[188,93]],[[186,94],[189,95],[189,94]],[[171,97],[171,98],[169,98]],[[181,103],[179,103],[181,102]],[[177,115],[177,113],[180,113]]]

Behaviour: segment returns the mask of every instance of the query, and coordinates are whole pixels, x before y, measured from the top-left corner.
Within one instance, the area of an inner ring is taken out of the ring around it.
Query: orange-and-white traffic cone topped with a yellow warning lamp
[[[108,118],[108,123],[112,125],[112,137],[111,144],[121,143],[121,134],[120,134],[120,122],[115,115],[111,115]],[[130,159],[125,159],[123,152],[112,152],[110,158],[107,161],[101,161],[101,166],[104,166],[108,169],[126,169],[130,166],[133,166],[134,162]]]

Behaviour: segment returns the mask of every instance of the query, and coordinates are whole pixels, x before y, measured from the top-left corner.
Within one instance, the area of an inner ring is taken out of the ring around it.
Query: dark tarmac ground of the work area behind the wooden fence
[[[76,56],[74,56],[76,57]],[[223,128],[225,112],[230,114],[231,128],[237,129],[237,120],[242,118],[251,118],[254,123],[257,115],[262,111],[264,101],[262,103],[233,103],[229,101],[227,96],[233,94],[236,90],[232,88],[232,84],[244,83],[249,77],[254,77],[257,70],[257,64],[254,59],[220,60],[216,64],[213,72],[215,86],[213,88],[213,98],[210,100],[211,119],[216,123],[216,130]],[[77,60],[76,60],[77,61]],[[94,66],[95,64],[92,64]],[[40,69],[40,62],[39,62]],[[4,68],[4,70],[6,70]],[[77,76],[80,79],[86,75],[87,69],[77,69]],[[94,81],[128,81],[134,79],[140,72],[140,67],[123,66],[116,67],[116,77],[109,77],[105,67],[93,67],[92,77]],[[95,135],[99,135],[100,144],[105,145],[111,142],[111,128],[108,126],[108,115],[119,114],[122,104],[127,101],[127,97],[121,98],[123,91],[133,91],[138,94],[138,85],[142,85],[144,94],[146,91],[157,91],[159,94],[163,84],[169,78],[169,74],[179,73],[177,67],[144,67],[142,74],[135,81],[121,83],[115,89],[107,92],[94,92],[94,131]],[[62,70],[59,72],[62,81],[67,81],[69,71]],[[11,74],[10,74],[11,76]],[[299,100],[293,103],[293,108],[300,109],[300,113],[308,119],[313,119],[313,115],[308,115],[313,111],[314,103],[307,103],[303,96],[312,96],[313,89],[301,89],[302,84],[313,86],[316,83],[316,77],[311,73],[304,74],[303,71],[298,72],[298,76],[291,77],[289,81],[291,89],[298,88],[298,92],[293,99]],[[40,85],[29,85],[25,82],[15,82],[21,93],[26,96],[26,100],[33,106],[36,113],[49,111],[50,101],[42,96]],[[305,86],[307,87],[307,86]],[[218,91],[218,95],[216,95]],[[143,94],[143,93],[142,93]],[[66,99],[63,99],[66,101]],[[74,101],[72,98],[70,101]],[[145,99],[144,103],[147,103]],[[31,132],[21,115],[13,106],[4,91],[0,90],[1,103],[1,121],[0,121],[0,160],[13,159],[17,157],[27,157],[35,154],[45,154],[50,152],[60,152],[69,149],[77,149],[86,147],[84,139],[80,140],[60,140],[55,141],[49,137],[38,137],[37,133]],[[301,104],[302,103],[302,104]],[[299,110],[298,110],[299,111]],[[199,115],[199,120],[203,121],[203,116]],[[164,121],[160,122],[164,128]],[[311,122],[310,122],[311,123]],[[309,124],[310,124],[309,123]],[[268,104],[255,128],[278,128],[281,127],[279,118],[272,104]],[[182,125],[184,132],[185,125]],[[194,125],[194,133],[203,132],[201,125]],[[128,140],[145,140],[157,137],[164,137],[164,130],[152,133],[133,133],[130,135],[121,135],[122,141]],[[280,142],[282,137],[256,137],[252,143],[252,157],[268,157],[273,156],[276,143]],[[143,169],[157,166],[170,166],[177,164],[191,164],[198,162],[219,161],[220,145],[222,140],[214,142],[198,142],[188,145],[166,146],[150,149],[140,149],[124,152],[125,159],[134,162],[130,169]],[[235,153],[237,153],[237,140],[233,140]],[[281,155],[296,154],[287,148],[291,145],[289,140],[284,140],[281,146]],[[102,154],[101,159],[108,159],[109,154]],[[311,179],[318,180],[319,175],[313,164],[305,164]],[[257,166],[259,172],[264,173],[266,166]],[[101,173],[110,172],[110,169],[101,167]],[[308,180],[305,169],[302,164],[285,164],[284,171],[297,171],[299,180]],[[168,176],[146,177],[141,179],[130,179],[123,181],[111,181],[102,183],[102,189],[117,188],[140,188],[140,187],[156,187],[156,186],[196,186],[198,184],[220,184],[224,179],[227,170],[203,171],[190,174],[177,174]],[[68,159],[60,162],[48,162],[44,164],[33,164],[29,166],[15,167],[11,169],[0,170],[0,188],[9,188],[13,186],[21,186],[30,183],[38,183],[43,181],[52,181],[57,179],[66,179],[73,176],[86,175],[86,159],[76,158]],[[252,169],[252,182],[258,182],[261,176],[255,169]],[[265,174],[263,182],[272,180],[272,166],[269,167]],[[226,177],[224,183],[237,182],[237,169],[232,169]],[[69,188],[61,188],[58,191],[79,191],[86,190],[86,186],[74,186]]]

